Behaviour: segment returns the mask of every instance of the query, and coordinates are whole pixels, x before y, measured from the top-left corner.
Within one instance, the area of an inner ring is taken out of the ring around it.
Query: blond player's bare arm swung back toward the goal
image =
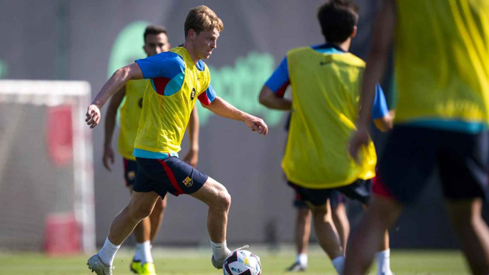
[[[143,73],[137,63],[132,63],[120,69],[117,69],[111,78],[100,89],[93,99],[87,110],[85,121],[93,128],[100,122],[100,109],[109,100],[109,98],[119,91],[131,79],[142,79]]]

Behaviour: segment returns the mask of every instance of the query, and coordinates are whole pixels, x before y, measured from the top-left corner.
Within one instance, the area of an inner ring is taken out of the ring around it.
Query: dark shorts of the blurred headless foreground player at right
[[[374,192],[413,203],[435,167],[447,199],[487,198],[489,133],[395,126],[378,165]]]

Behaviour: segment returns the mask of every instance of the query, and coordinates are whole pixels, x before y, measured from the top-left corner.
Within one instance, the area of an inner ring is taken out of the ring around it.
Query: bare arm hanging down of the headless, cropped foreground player
[[[387,62],[387,55],[394,36],[396,26],[396,9],[393,0],[384,0],[378,13],[374,27],[372,44],[367,55],[367,66],[363,75],[360,92],[360,114],[357,131],[350,140],[349,152],[358,161],[358,150],[370,141],[368,127],[370,113],[375,96],[375,84],[382,77]]]

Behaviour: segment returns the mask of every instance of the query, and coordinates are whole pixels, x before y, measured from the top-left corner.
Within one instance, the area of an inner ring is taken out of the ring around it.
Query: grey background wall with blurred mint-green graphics
[[[377,0],[357,0],[358,36],[351,51],[364,57]],[[198,169],[223,183],[232,196],[228,242],[291,242],[295,224],[293,193],[280,167],[286,139],[286,113],[257,102],[261,86],[287,50],[323,42],[316,8],[321,0],[0,0],[0,77],[8,79],[86,80],[94,96],[118,67],[144,57],[143,29],[165,25],[173,46],[183,42],[188,10],[212,8],[224,23],[218,48],[206,60],[218,95],[261,116],[271,127],[267,137],[243,123],[216,117],[200,108]],[[383,82],[391,93],[390,74]],[[102,110],[105,113],[105,108]],[[103,123],[93,130],[96,240],[101,244],[113,216],[124,207],[122,159],[111,172],[102,166]],[[326,133],[325,133],[326,134]],[[114,135],[117,136],[117,132]],[[376,132],[379,154],[384,135]],[[116,149],[116,138],[113,140]],[[186,153],[184,140],[180,155]],[[26,156],[27,157],[27,156]],[[49,173],[43,166],[37,173]],[[401,168],[400,168],[401,169]],[[393,247],[455,247],[436,177],[418,204],[406,209],[392,230]],[[1,183],[7,184],[7,183]],[[421,211],[422,210],[422,211]],[[208,243],[207,207],[189,196],[169,197],[156,244]],[[351,204],[355,224],[361,208]]]

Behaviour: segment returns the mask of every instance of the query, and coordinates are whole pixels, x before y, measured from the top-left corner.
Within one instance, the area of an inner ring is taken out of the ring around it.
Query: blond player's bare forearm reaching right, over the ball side
[[[202,106],[218,116],[243,121],[252,131],[257,131],[259,134],[268,133],[268,126],[263,119],[245,113],[220,97],[216,97],[209,105],[202,104]]]

